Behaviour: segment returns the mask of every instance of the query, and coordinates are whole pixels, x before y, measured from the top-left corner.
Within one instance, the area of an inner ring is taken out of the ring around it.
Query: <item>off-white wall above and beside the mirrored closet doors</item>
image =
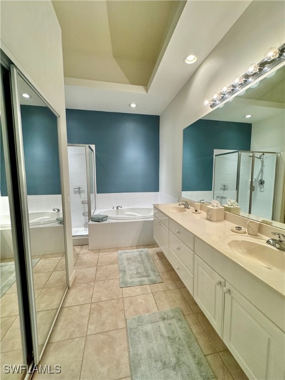
[[[1,1],[1,48],[60,116],[64,228],[73,276],[61,29],[51,1]]]

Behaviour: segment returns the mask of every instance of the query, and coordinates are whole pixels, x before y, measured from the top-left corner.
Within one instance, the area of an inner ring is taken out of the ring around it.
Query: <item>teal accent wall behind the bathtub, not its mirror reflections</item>
[[[95,144],[98,193],[159,190],[159,116],[66,110],[67,141]]]

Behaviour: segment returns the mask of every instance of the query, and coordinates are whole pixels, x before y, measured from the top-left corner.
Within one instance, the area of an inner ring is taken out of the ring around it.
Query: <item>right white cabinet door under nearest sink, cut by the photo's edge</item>
[[[226,284],[224,342],[249,379],[284,379],[285,334]]]

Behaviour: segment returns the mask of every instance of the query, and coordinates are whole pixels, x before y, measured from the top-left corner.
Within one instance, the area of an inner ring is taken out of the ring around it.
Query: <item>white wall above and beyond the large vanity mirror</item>
[[[181,196],[183,129],[209,112],[204,98],[284,43],[284,11],[284,1],[253,1],[162,113],[159,191]]]

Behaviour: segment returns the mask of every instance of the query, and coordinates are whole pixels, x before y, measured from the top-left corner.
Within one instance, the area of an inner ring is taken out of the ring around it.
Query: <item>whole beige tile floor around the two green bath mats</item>
[[[135,248],[141,246],[125,247]],[[147,248],[163,283],[120,288],[116,248],[74,247],[76,279],[40,363],[60,365],[61,373],[36,374],[34,379],[131,379],[126,318],[175,306],[181,308],[217,379],[247,379],[163,253],[157,246]]]

